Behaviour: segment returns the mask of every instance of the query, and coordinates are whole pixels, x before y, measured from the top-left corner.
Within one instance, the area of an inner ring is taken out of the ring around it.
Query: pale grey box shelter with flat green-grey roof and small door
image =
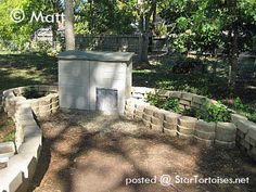
[[[65,51],[57,57],[62,108],[124,113],[131,97],[132,53]]]

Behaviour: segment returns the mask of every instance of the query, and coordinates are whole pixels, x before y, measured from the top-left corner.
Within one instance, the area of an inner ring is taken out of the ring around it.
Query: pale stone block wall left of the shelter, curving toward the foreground
[[[35,90],[46,97],[26,99],[25,90]],[[57,87],[29,86],[3,92],[3,108],[15,121],[16,155],[0,170],[0,191],[26,191],[36,170],[42,141],[42,132],[36,117],[43,118],[59,108]]]

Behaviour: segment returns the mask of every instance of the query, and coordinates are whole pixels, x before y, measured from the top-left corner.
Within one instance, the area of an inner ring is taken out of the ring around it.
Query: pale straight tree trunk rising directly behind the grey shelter
[[[75,50],[73,0],[65,1],[65,42],[66,50]]]

